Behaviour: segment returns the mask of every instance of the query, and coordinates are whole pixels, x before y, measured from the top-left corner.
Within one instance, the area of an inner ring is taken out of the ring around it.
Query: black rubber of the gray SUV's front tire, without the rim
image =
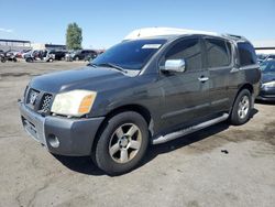
[[[120,164],[112,160],[109,154],[109,142],[113,132],[123,123],[136,124],[142,133],[142,143],[138,154],[128,163]],[[102,130],[96,145],[95,157],[96,164],[109,175],[119,175],[128,173],[139,165],[143,159],[148,145],[148,129],[144,118],[133,111],[122,112],[112,117]]]

